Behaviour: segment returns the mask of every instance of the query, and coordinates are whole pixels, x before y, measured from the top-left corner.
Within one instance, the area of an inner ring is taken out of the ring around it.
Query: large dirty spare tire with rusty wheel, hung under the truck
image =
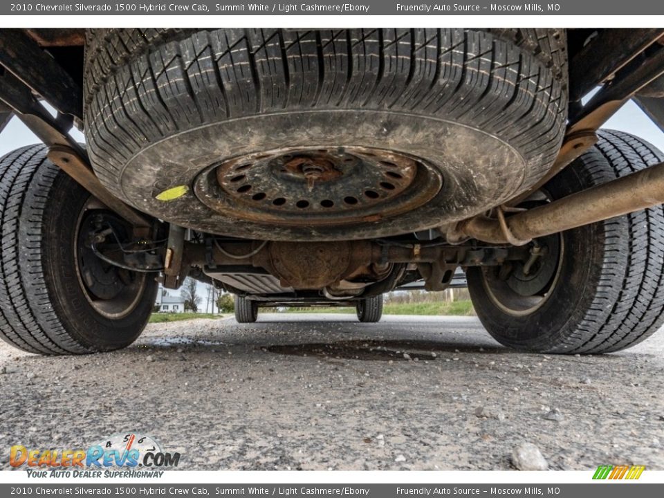
[[[566,122],[563,30],[93,29],[96,174],[196,230],[365,239],[533,185]]]

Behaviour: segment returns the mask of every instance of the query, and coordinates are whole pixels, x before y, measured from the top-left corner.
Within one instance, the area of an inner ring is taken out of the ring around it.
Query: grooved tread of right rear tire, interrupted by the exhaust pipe
[[[602,130],[596,149],[616,177],[664,160],[655,147],[629,133]],[[600,174],[601,167],[591,167]],[[580,327],[574,351],[609,353],[638,344],[664,324],[664,207],[628,214],[627,237],[613,234],[618,221],[605,222],[604,267],[595,303]],[[605,317],[605,311],[611,312]]]

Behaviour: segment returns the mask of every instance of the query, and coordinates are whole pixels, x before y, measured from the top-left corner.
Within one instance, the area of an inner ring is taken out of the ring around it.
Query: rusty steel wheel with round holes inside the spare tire
[[[440,190],[437,169],[394,151],[306,147],[213,165],[196,194],[227,216],[279,225],[378,221],[423,205]]]

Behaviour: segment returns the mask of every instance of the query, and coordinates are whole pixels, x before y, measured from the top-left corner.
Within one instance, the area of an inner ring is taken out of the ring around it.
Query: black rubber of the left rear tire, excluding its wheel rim
[[[154,306],[146,274],[124,317],[101,315],[77,276],[75,232],[90,194],[46,158],[46,146],[0,159],[0,338],[41,354],[111,351],[131,344]]]

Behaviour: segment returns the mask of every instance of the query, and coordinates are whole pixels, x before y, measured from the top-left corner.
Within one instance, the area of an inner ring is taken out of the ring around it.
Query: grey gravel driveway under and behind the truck
[[[295,320],[287,322],[286,320]],[[0,344],[10,445],[140,432],[183,470],[664,470],[664,333],[607,356],[508,351],[472,317],[269,315],[151,324],[129,349],[40,357]]]

